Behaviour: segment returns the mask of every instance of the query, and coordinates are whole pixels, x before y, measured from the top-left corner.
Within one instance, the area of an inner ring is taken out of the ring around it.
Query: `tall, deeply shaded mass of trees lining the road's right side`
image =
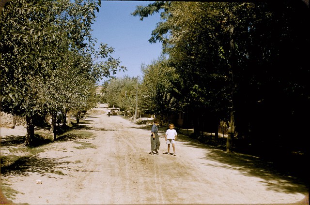
[[[171,95],[193,114],[192,137],[223,120],[227,151],[308,154],[309,3],[156,1],[132,15],[155,12],[163,21],[149,42],[178,75]]]

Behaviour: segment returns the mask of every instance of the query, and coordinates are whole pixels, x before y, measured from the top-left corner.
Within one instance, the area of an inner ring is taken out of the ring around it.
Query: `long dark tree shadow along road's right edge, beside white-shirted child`
[[[305,169],[305,156],[299,160],[283,159],[273,160],[264,159],[258,156],[226,152],[222,147],[202,144],[198,139],[189,138],[186,135],[178,134],[178,140],[185,146],[205,149],[206,154],[202,159],[218,161],[218,163],[204,164],[206,166],[223,167],[233,171],[241,172],[244,176],[254,176],[262,178],[268,189],[279,190],[287,193],[309,191],[309,174]]]

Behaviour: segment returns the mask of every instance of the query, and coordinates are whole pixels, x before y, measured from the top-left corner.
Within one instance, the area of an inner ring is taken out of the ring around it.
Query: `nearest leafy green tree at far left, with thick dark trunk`
[[[26,116],[25,145],[31,143],[33,116],[42,112],[37,88],[44,85],[53,62],[59,59],[58,46],[62,48],[64,34],[51,23],[55,7],[51,1],[10,1],[1,15],[2,109]]]

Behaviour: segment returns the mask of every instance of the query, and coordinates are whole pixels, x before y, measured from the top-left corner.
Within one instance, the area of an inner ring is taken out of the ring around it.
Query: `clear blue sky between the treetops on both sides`
[[[114,48],[112,57],[120,58],[121,65],[126,72],[119,72],[116,76],[142,76],[141,63],[148,65],[161,54],[162,44],[150,44],[152,30],[160,22],[159,13],[140,21],[139,16],[130,15],[137,5],[147,5],[152,1],[117,1],[103,0],[96,22],[92,25],[93,37],[97,38],[97,48],[100,43]]]

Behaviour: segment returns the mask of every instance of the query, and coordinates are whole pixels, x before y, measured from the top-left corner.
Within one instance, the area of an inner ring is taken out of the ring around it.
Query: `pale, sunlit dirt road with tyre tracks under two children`
[[[152,156],[150,125],[108,117],[103,104],[97,111],[78,131],[89,137],[45,145],[19,169],[2,175],[2,183],[16,191],[14,203],[285,204],[302,201],[308,193],[298,180],[279,176],[257,158],[229,154],[181,134],[177,156],[163,154],[164,128],[159,155]]]

